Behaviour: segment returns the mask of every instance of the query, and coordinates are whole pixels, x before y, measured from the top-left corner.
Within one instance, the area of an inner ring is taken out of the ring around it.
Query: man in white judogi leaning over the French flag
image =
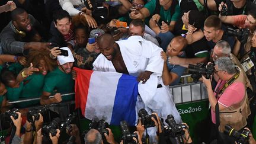
[[[98,45],[101,54],[93,63],[94,71],[137,76],[137,81],[142,83],[139,84],[137,108],[143,103],[149,113],[156,112],[160,117],[172,114],[175,121],[181,123],[171,92],[162,82],[164,60],[161,59],[160,47],[141,36],[114,41],[110,34],[103,34],[98,39]]]

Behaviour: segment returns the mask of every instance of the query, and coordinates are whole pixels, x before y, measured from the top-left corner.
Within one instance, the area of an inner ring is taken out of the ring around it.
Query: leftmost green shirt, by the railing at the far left
[[[9,101],[17,101],[20,98],[21,92],[23,91],[23,82],[20,83],[20,87],[18,88],[10,88],[10,87],[6,87],[7,88],[7,100]]]

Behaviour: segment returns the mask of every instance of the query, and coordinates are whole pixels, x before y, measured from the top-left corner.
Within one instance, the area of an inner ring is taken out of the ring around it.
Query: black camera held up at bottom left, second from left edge
[[[34,121],[39,120],[39,116],[40,116],[39,113],[43,114],[43,113],[46,113],[46,111],[48,110],[49,110],[49,107],[47,107],[47,105],[40,107],[37,110],[28,110],[28,113],[27,113],[28,122],[34,123]],[[34,120],[33,120],[33,116],[34,116]]]

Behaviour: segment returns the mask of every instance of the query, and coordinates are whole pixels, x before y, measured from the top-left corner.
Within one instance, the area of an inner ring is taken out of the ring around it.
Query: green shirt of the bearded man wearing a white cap
[[[66,74],[57,67],[44,78],[43,91],[50,92],[52,95],[55,93],[67,94],[74,92],[74,86],[75,82],[72,79],[71,73]],[[73,95],[62,97],[62,101],[68,100],[74,100]]]

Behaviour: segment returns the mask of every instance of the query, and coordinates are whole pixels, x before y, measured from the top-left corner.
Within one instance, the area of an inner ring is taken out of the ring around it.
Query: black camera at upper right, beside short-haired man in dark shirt
[[[237,37],[237,39],[241,43],[246,43],[248,36],[249,36],[249,29],[248,28],[241,28],[241,29],[233,29],[231,27],[227,28],[227,33],[229,36]]]

